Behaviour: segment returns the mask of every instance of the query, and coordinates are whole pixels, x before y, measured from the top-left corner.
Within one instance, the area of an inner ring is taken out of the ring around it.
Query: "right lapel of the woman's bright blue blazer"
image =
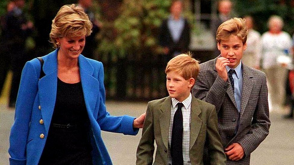
[[[97,78],[93,77],[93,66],[82,55],[79,56],[79,66],[85,104],[88,114],[90,114],[93,113],[97,102],[99,94],[99,91],[97,91],[99,90],[99,81]]]

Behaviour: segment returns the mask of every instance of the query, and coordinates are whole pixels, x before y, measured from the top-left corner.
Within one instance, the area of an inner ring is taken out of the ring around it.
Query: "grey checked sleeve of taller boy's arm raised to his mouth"
[[[213,78],[212,73],[205,69],[205,66],[200,66],[200,68],[203,70],[199,72],[192,93],[196,98],[215,105],[218,113],[230,83],[217,75],[214,83],[210,86],[208,80]]]

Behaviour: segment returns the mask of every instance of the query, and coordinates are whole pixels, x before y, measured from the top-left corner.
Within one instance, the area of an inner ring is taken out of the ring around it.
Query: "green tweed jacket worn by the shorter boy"
[[[153,163],[154,140],[157,145],[154,164],[168,163],[170,107],[170,96],[148,102],[142,137],[137,148],[137,165]],[[211,164],[225,165],[227,159],[218,133],[215,107],[192,96],[189,147],[192,165],[203,165],[205,141],[208,142]]]

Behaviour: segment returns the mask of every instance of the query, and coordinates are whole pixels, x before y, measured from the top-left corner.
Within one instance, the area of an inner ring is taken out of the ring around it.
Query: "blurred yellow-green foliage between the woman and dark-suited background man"
[[[99,52],[124,57],[126,53],[148,51],[161,53],[157,44],[158,29],[161,21],[169,16],[170,0],[124,0],[120,16],[114,23],[106,23],[107,30],[102,32]],[[192,24],[192,13],[185,12]],[[111,29],[111,32],[109,31]]]

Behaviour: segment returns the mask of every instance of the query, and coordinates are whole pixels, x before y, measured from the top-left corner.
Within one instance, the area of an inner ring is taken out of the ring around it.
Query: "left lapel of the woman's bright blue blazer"
[[[45,73],[45,76],[38,82],[41,114],[47,134],[56,100],[57,52],[58,49],[47,56],[44,56],[43,72]]]

